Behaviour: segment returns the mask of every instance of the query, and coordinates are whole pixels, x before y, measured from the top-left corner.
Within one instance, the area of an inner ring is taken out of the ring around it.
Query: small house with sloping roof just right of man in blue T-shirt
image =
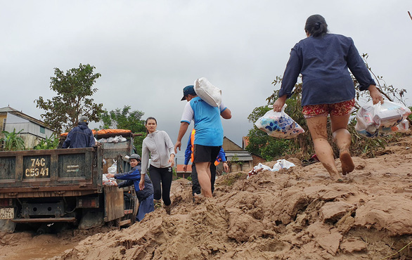
[[[231,172],[244,171],[253,167],[252,155],[226,136],[223,138],[222,147],[226,152],[226,160],[231,164]]]

